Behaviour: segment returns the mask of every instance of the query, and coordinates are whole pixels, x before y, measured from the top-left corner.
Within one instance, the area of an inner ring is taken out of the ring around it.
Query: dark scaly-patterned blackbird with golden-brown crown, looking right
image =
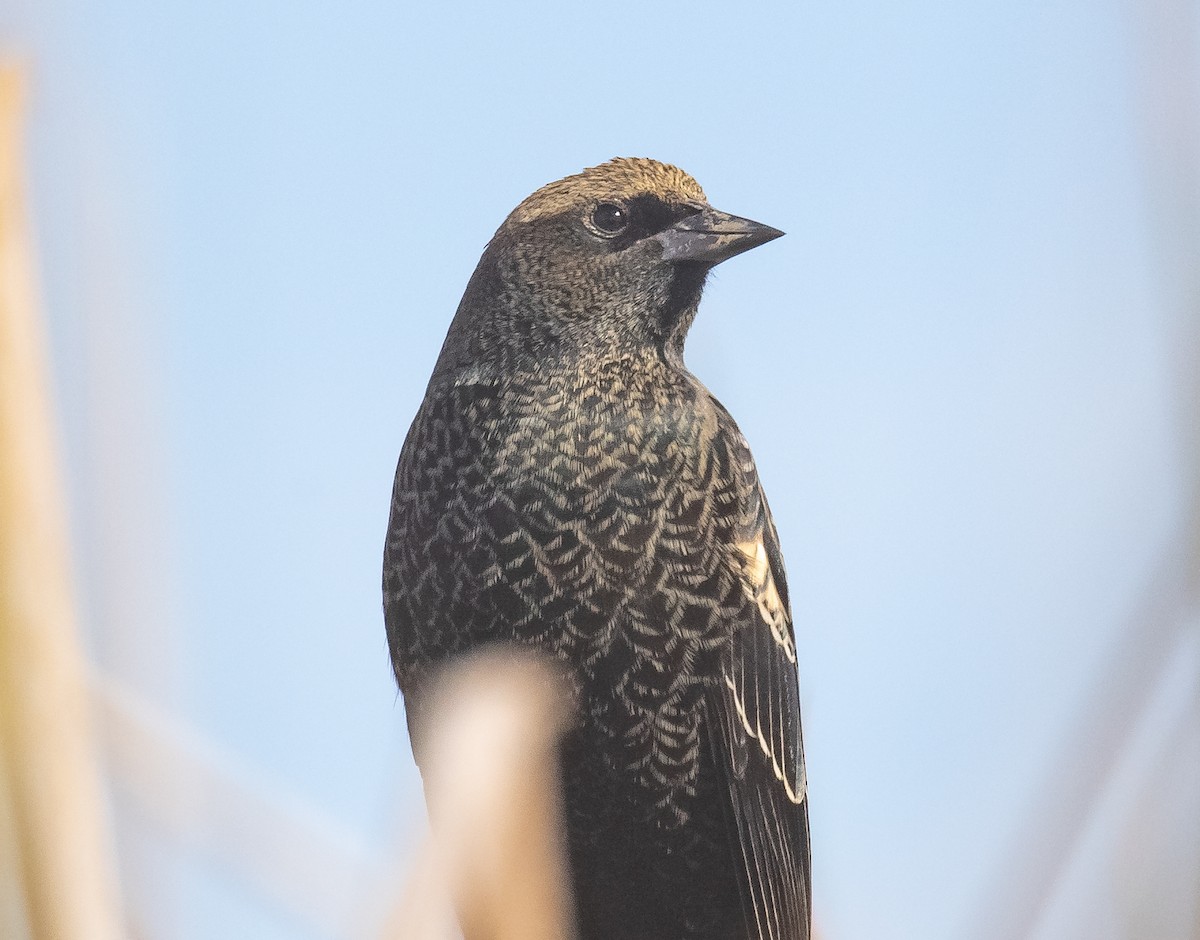
[[[384,546],[391,665],[509,641],[562,664],[582,940],[808,940],[796,637],[745,437],[689,372],[714,265],[784,233],[617,157],[487,243],[404,439]]]

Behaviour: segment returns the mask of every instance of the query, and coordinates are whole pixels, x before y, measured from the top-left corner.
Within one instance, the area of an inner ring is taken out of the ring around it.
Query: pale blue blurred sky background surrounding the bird
[[[396,455],[505,214],[636,155],[788,233],[688,360],[788,563],[823,940],[1200,938],[1196,23],[7,0],[131,933],[377,930]]]

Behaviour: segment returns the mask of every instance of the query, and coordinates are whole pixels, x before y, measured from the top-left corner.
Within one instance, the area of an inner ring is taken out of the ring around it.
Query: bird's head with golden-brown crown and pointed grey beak
[[[510,355],[514,342],[534,357],[647,346],[679,354],[713,265],[781,234],[713,209],[677,167],[610,160],[512,210],[480,259],[456,325],[474,334],[476,349],[484,334]]]

